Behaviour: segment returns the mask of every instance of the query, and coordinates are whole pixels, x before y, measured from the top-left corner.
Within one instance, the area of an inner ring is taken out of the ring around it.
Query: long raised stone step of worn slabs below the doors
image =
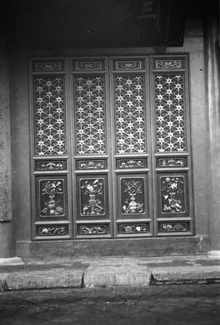
[[[0,290],[220,283],[205,255],[26,261],[0,267]]]

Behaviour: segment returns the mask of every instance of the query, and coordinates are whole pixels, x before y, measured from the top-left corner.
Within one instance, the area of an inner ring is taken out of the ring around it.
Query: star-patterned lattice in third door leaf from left
[[[117,153],[145,152],[143,76],[115,77]]]

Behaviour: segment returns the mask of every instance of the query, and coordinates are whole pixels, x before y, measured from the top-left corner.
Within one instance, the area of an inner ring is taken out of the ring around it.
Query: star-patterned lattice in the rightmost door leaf
[[[155,100],[157,151],[185,151],[183,76],[155,76]]]

